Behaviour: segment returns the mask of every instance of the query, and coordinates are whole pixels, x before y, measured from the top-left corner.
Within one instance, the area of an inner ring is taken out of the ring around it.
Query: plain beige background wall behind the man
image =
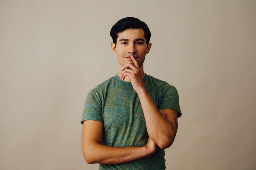
[[[256,1],[0,1],[0,169],[96,170],[82,155],[86,94],[118,73],[109,35],[151,30],[145,73],[182,116],[167,170],[256,169]]]

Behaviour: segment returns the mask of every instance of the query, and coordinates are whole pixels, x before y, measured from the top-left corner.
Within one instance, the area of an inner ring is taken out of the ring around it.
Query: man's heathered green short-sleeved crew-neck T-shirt
[[[182,115],[179,95],[169,83],[145,74],[143,82],[159,110],[173,109]],[[81,123],[96,120],[103,123],[102,144],[115,147],[144,146],[148,133],[140,99],[132,83],[118,74],[90,90],[86,96]],[[99,164],[99,169],[164,170],[165,151],[158,148],[152,155],[121,164]]]

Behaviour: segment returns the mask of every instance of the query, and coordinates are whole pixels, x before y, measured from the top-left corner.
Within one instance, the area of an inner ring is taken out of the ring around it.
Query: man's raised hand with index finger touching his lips
[[[127,63],[126,65],[123,66],[123,69],[122,69],[123,73],[121,74],[121,79],[124,80],[125,76],[130,76],[133,90],[138,91],[145,88],[145,86],[144,86],[143,78],[140,73],[140,69],[139,69],[140,66],[137,60],[135,59],[135,57],[133,57],[132,54],[130,55],[130,57],[134,65],[132,63]]]

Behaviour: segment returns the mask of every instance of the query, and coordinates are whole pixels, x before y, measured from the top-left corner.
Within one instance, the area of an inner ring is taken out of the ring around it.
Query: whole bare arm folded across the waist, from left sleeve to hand
[[[149,138],[143,147],[110,147],[102,145],[102,122],[86,120],[82,129],[82,150],[88,164],[119,164],[151,155],[157,145]]]

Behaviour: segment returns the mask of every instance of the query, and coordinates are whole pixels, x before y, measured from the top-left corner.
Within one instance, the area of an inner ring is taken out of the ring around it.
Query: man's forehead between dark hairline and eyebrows
[[[129,39],[129,40],[135,40],[135,39],[145,39],[144,31],[142,28],[140,29],[126,29],[122,32],[118,32],[118,38],[120,39]]]

